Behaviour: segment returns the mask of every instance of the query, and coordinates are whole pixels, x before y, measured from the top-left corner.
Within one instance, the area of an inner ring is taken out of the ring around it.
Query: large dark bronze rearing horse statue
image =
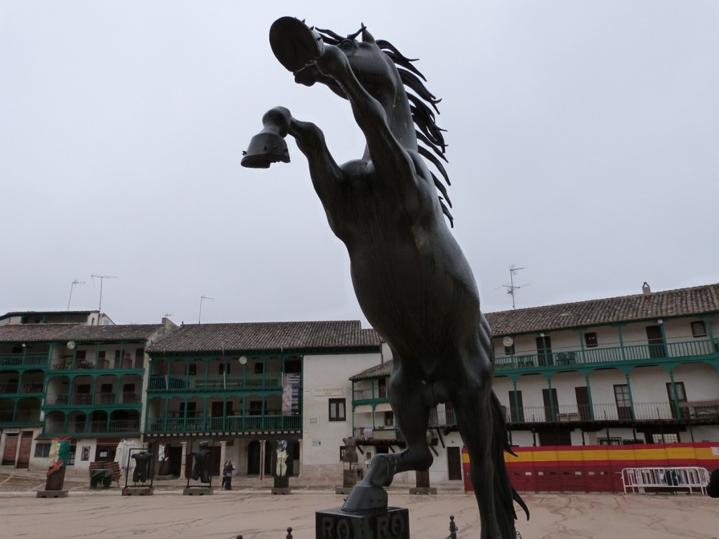
[[[504,462],[510,448],[492,391],[491,331],[470,264],[445,220],[452,221],[446,188],[425,162],[449,184],[438,159],[445,149],[433,112],[439,100],[427,91],[414,60],[375,40],[364,25],[342,37],[283,17],[270,29],[270,45],[296,82],[322,83],[346,98],[367,142],[361,159],[338,165],[319,127],[275,107],[242,160],[246,167],[288,162],[283,139],[296,139],[329,226],[347,247],[362,312],[393,354],[388,397],[406,449],[375,455],[343,510],[386,507],[382,487],[395,474],[429,469],[430,410],[452,402],[470,453],[481,537],[513,539],[513,501],[527,509]]]

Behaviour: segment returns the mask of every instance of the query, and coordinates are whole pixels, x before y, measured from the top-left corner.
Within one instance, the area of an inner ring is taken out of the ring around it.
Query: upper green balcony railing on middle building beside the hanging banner
[[[278,390],[282,388],[282,373],[267,374],[212,374],[205,376],[152,376],[148,392],[186,392],[223,390]]]

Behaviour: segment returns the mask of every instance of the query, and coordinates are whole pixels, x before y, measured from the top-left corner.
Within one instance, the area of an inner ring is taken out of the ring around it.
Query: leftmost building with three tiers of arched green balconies
[[[111,460],[122,438],[139,443],[145,347],[176,326],[166,319],[87,326],[47,318],[0,326],[2,464],[44,469],[57,437],[70,438],[78,453],[86,448],[86,461],[72,459],[77,469]]]

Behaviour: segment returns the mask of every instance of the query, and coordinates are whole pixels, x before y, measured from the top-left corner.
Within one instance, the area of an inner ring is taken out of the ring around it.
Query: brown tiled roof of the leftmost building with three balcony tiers
[[[83,324],[7,324],[0,326],[0,342],[131,341],[146,339],[160,324],[85,326]]]

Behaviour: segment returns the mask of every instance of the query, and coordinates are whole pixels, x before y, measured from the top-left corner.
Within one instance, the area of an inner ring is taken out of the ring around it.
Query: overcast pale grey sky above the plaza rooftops
[[[284,15],[420,58],[483,310],[512,264],[518,308],[719,282],[715,0],[0,0],[0,313],[97,309],[108,275],[116,323],[366,326],[295,143],[239,165],[277,105],[362,155],[275,60]]]

